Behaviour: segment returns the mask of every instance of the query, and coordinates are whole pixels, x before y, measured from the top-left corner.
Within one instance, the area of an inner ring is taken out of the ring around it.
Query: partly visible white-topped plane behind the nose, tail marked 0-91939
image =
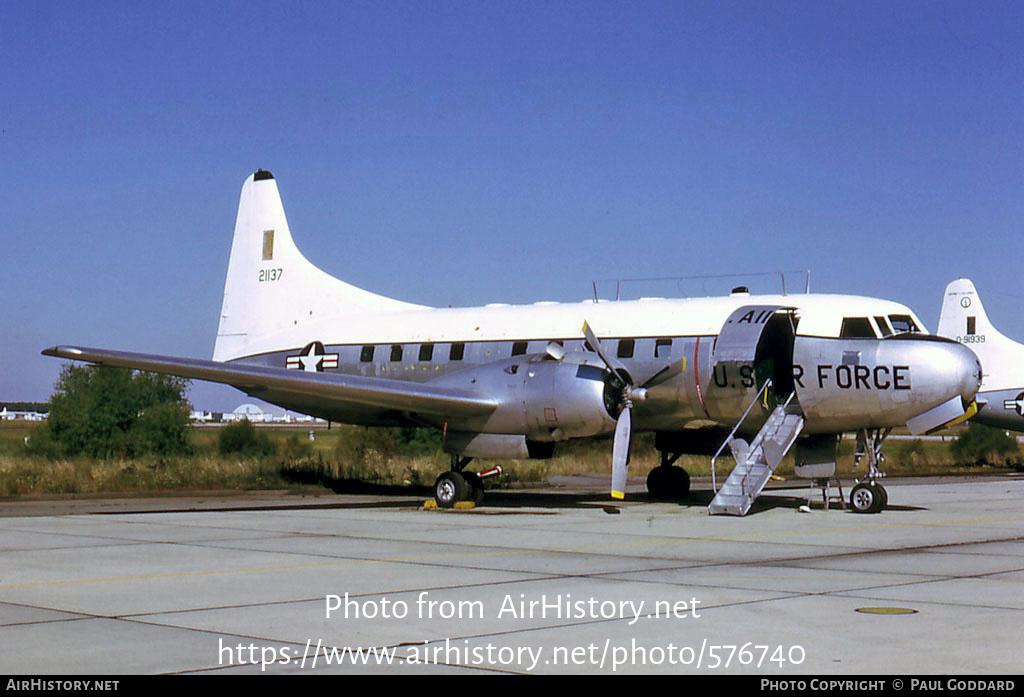
[[[946,286],[937,334],[968,346],[984,368],[972,421],[1024,431],[1024,344],[992,325],[969,278]]]

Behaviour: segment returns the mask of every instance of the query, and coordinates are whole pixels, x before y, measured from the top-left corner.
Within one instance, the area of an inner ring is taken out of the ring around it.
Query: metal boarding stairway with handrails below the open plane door
[[[770,381],[765,384],[758,396],[748,406],[746,411],[743,412],[743,419],[750,412],[751,406],[761,399],[762,393],[768,389]],[[797,437],[804,428],[804,413],[800,404],[794,403],[794,394],[791,394],[784,403],[775,407],[751,443],[742,438],[734,437],[739,426],[743,423],[743,419],[740,419],[732,433],[726,438],[726,442],[722,443],[722,447],[715,453],[715,458],[712,459],[713,484],[715,461],[725,448],[726,443],[732,450],[736,467],[732,470],[729,478],[725,480],[722,488],[718,489],[715,498],[708,507],[708,512],[711,515],[745,516],[751,510],[754,500],[771,479],[772,473],[782,462],[782,458],[797,442]]]

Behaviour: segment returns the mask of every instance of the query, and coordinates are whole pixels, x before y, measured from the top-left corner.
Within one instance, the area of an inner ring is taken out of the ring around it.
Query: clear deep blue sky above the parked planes
[[[409,301],[809,268],[934,329],[966,275],[1024,340],[1022,47],[1013,2],[2,3],[0,400],[56,343],[208,357],[257,168]]]

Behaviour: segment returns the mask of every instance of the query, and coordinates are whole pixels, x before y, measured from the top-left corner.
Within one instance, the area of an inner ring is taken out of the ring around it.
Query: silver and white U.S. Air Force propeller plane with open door
[[[714,467],[728,445],[737,465],[721,487],[714,479],[709,511],[744,515],[786,452],[798,472],[828,476],[840,434],[856,431],[869,469],[851,505],[872,513],[888,498],[877,479],[889,431],[966,418],[981,380],[969,349],[874,298],[737,288],[431,308],[380,296],[301,254],[264,170],[242,186],[212,360],[43,354],[223,383],[332,422],[434,427],[451,456],[434,484],[444,508],[479,503],[482,479],[500,471],[466,469],[474,459],[550,458],[559,442],[592,437],[611,438],[611,495],[623,498],[632,433],[653,431],[651,495],[685,496],[679,456],[714,452]]]

